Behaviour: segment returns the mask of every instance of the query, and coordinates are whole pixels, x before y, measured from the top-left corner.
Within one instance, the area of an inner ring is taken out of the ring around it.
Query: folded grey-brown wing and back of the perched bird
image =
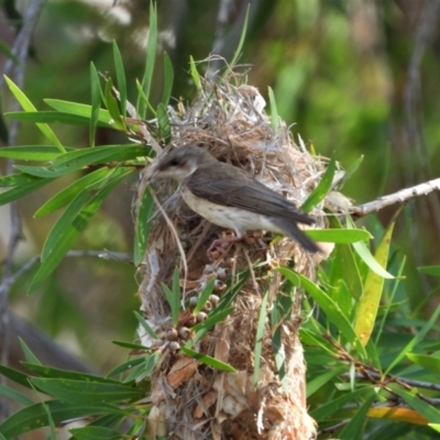
[[[185,183],[197,197],[213,204],[245,209],[270,217],[282,217],[305,224],[315,220],[265,185],[249,176],[240,168],[219,162],[205,169],[199,166]]]

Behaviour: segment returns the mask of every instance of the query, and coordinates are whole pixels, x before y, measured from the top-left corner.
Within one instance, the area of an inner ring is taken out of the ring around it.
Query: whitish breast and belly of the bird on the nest
[[[283,232],[278,227],[273,224],[271,219],[266,216],[240,208],[212,204],[211,201],[195,196],[186,187],[182,189],[182,196],[193,211],[213,224],[232,229],[238,237],[242,237],[245,231],[255,230]]]

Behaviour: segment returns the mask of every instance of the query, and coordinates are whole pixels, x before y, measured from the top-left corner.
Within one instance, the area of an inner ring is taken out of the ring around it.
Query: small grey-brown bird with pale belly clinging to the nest
[[[147,185],[158,179],[176,180],[193,211],[234,231],[235,237],[216,240],[208,253],[215,248],[223,252],[221,242],[240,241],[246,231],[257,230],[288,235],[310,253],[320,251],[297,226],[310,226],[314,218],[246,170],[218,161],[204,147],[185,144],[167,148],[152,163],[145,179]]]

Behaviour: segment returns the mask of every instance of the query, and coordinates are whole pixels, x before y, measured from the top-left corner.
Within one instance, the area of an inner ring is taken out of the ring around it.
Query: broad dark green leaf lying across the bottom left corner
[[[54,424],[61,424],[65,420],[81,418],[87,416],[96,416],[102,414],[121,414],[121,410],[113,408],[109,405],[89,406],[85,402],[63,403],[59,400],[48,400],[43,404],[35,404],[30,407],[23,408],[0,425],[0,432],[6,438],[13,438],[33,429],[47,426],[48,420],[46,417],[47,407],[51,413]]]

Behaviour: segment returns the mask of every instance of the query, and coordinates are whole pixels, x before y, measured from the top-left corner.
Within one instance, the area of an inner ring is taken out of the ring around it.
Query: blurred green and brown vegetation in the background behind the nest
[[[12,46],[29,3],[0,1],[3,8],[0,38],[6,46]],[[114,76],[112,40],[118,42],[123,56],[129,94],[135,92],[134,78],[142,76],[145,57],[148,8],[144,1],[114,3],[111,0],[99,6],[94,1],[51,0],[44,4],[32,34],[23,87],[40,110],[46,108],[44,98],[89,103],[90,61],[99,72],[110,70]],[[261,0],[251,3],[249,33],[240,58],[242,69],[249,70],[249,84],[264,96],[267,86],[274,89],[280,117],[292,122],[295,136],[300,134],[317,153],[330,156],[336,152],[344,167],[364,156],[362,166],[344,187],[346,196],[356,202],[369,201],[438,176],[437,1]],[[19,15],[14,14],[15,7]],[[220,7],[228,10],[224,22]],[[194,59],[204,59],[213,51],[231,57],[244,13],[244,2],[158,3],[161,51],[168,52],[175,72],[172,96],[184,100],[194,97],[188,73],[190,55]],[[162,59],[161,51],[157,56]],[[7,50],[0,56],[1,67],[8,59]],[[155,72],[153,102],[161,100],[163,77],[160,67]],[[3,88],[2,110],[13,108],[14,98]],[[4,121],[10,123],[8,119]],[[54,130],[65,145],[89,143],[87,128],[59,124]],[[3,141],[4,145],[9,144]],[[125,141],[113,131],[99,130],[97,135],[97,144]],[[16,144],[46,142],[34,124],[20,127]],[[77,249],[130,252],[134,194],[131,186],[135,184],[133,178],[112,193],[81,235]],[[41,252],[57,216],[41,219],[32,216],[57,190],[54,186],[45,187],[19,202],[25,240],[15,254],[15,267]],[[395,209],[362,219],[360,224],[365,224],[380,240],[383,224],[391,220]],[[9,211],[2,208],[0,255],[3,258],[8,254],[10,229]],[[396,274],[403,267],[406,282],[398,286],[387,282],[388,292],[395,295],[396,314],[389,315],[386,321],[392,336],[397,332],[410,340],[438,307],[436,278],[416,267],[439,263],[439,235],[438,194],[405,207],[394,233],[389,271]],[[136,309],[139,301],[134,296],[136,280],[131,266],[91,257],[67,258],[53,277],[28,297],[25,292],[33,275],[32,271],[26,272],[12,286],[10,305],[16,315],[68,346],[97,371],[106,372],[123,360],[125,351],[109,341],[131,340],[134,334],[136,321],[131,310]],[[437,331],[437,327],[431,328],[432,344]],[[388,346],[395,343],[392,336]],[[437,346],[433,344],[431,350]],[[310,363],[310,380],[318,372],[318,366]],[[318,406],[320,399],[328,397],[323,396],[326,393],[330,391],[323,387],[310,405]],[[399,429],[400,438],[410,438],[402,433],[407,428]],[[424,429],[418,435],[435,438]],[[377,432],[382,432],[380,428]]]

